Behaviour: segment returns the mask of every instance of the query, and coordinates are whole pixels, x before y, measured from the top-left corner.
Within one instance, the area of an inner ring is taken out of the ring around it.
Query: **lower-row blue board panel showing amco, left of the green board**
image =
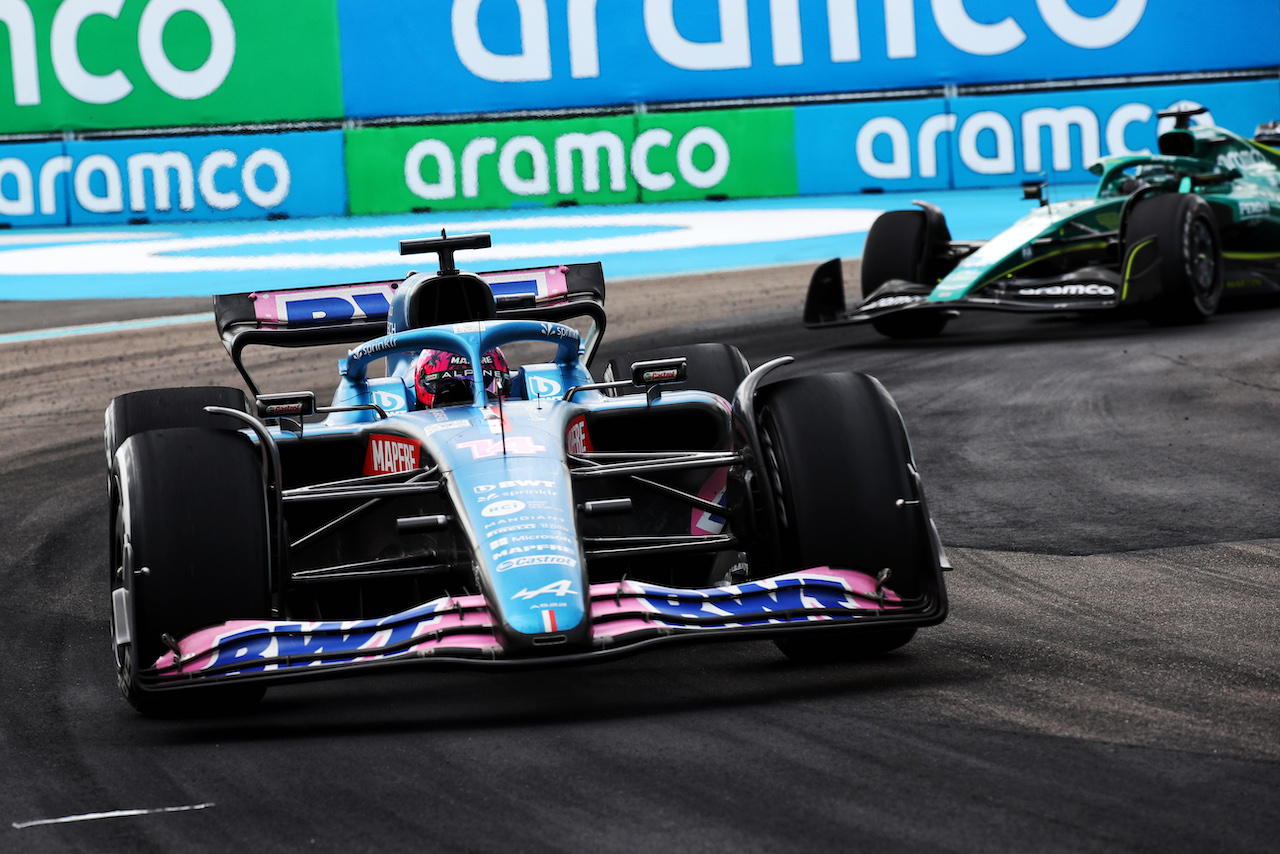
[[[340,215],[340,131],[84,140],[61,164],[72,225]]]

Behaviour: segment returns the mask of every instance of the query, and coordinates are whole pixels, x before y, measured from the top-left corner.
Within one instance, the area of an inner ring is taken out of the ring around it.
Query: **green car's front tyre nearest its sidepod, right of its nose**
[[[1208,204],[1192,193],[1143,198],[1129,216],[1130,245],[1155,234],[1160,296],[1147,310],[1158,326],[1203,323],[1222,298],[1222,243]]]

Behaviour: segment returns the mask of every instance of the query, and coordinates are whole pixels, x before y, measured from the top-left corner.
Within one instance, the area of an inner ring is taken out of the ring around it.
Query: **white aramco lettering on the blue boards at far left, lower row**
[[[259,207],[276,207],[289,195],[289,164],[284,155],[273,149],[259,149],[244,159],[243,165],[239,165],[234,151],[221,149],[205,156],[198,168],[182,151],[147,151],[125,157],[123,174],[120,165],[105,154],[91,154],[79,163],[69,155],[58,155],[40,166],[38,175],[32,175],[31,166],[24,160],[4,157],[0,159],[0,182],[13,175],[17,193],[10,197],[0,191],[0,214],[35,214],[37,187],[40,213],[56,214],[58,202],[63,197],[58,187],[60,175],[70,175],[76,202],[91,214],[124,211],[125,178],[131,211],[147,210],[148,184],[156,211],[173,210],[174,189],[178,193],[178,209],[195,210],[197,187],[201,198],[214,210],[233,210],[241,205],[242,197],[236,189],[218,188],[219,173],[224,169],[239,178],[244,196]],[[266,181],[262,181],[266,178],[264,169],[270,173]]]

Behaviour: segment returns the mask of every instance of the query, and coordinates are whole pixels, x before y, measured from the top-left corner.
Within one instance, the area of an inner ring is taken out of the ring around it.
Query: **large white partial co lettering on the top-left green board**
[[[123,70],[108,73],[88,70],[81,61],[81,27],[90,18],[119,18],[124,0],[63,0],[54,13],[49,33],[49,59],[54,77],[68,95],[84,104],[114,104],[133,91],[133,82]],[[169,19],[182,12],[200,15],[209,28],[209,56],[192,70],[173,64],[164,47],[164,29]],[[40,63],[36,46],[36,22],[29,0],[0,3],[0,23],[9,32],[9,59],[13,64],[13,101],[15,106],[37,106]],[[193,101],[215,92],[236,61],[236,26],[221,0],[151,0],[142,10],[137,35],[138,56],[151,81],[173,97]]]

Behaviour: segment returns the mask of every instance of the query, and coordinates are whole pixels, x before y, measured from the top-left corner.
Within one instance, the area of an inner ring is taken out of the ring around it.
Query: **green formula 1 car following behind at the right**
[[[845,302],[840,261],[809,284],[809,328],[870,323],[927,338],[961,310],[1107,311],[1156,324],[1199,323],[1224,297],[1280,293],[1280,122],[1253,140],[1190,127],[1198,110],[1161,113],[1175,127],[1158,155],[1105,157],[1093,198],[1041,206],[989,241],[952,241],[942,211],[883,214],[863,252],[863,298]]]

